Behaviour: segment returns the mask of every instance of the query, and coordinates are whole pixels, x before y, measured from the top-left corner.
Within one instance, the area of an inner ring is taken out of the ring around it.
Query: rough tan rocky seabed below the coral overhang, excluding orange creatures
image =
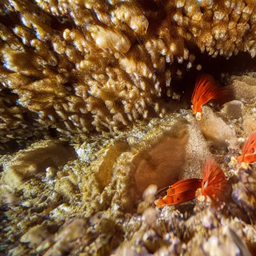
[[[8,255],[253,255],[256,162],[235,160],[255,129],[255,73],[226,77],[233,97],[181,108],[118,134],[68,145],[42,139],[0,158],[0,250]],[[254,100],[252,98],[254,97]],[[254,125],[254,126],[253,126]],[[215,208],[200,196],[157,209],[160,189],[202,178],[205,159],[232,185]]]

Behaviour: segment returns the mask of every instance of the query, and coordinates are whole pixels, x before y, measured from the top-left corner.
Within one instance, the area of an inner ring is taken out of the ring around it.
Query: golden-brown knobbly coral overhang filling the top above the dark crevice
[[[255,6],[254,0],[2,0],[2,140],[39,137],[38,130],[47,136],[48,127],[68,138],[118,131],[163,116],[176,98],[173,81],[201,69],[199,52],[255,56]]]

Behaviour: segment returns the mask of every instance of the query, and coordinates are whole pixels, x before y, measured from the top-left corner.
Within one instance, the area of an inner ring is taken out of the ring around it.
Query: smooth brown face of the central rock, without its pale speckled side
[[[172,128],[167,128],[169,130],[164,130],[164,127],[159,129],[155,135],[146,134],[144,141],[137,145],[138,154],[133,161],[136,165],[134,188],[137,195],[141,196],[152,182],[160,189],[182,175],[189,137],[188,125],[183,120],[177,121]]]

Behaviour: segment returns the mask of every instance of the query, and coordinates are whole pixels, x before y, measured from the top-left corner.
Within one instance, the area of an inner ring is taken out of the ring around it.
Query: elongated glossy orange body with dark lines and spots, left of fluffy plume
[[[175,182],[169,189],[167,195],[154,201],[158,207],[175,205],[194,198],[196,190],[201,187],[202,179],[188,178]]]

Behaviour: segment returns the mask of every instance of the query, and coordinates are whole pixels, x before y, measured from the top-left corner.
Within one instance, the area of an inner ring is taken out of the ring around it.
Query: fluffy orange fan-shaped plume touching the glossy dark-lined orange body
[[[213,158],[207,159],[204,165],[201,194],[209,196],[213,203],[226,201],[231,195],[232,187],[220,166]]]

